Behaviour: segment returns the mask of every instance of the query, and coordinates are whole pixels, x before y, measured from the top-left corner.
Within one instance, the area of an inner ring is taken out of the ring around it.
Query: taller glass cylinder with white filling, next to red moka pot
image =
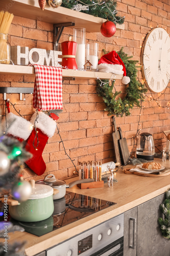
[[[73,28],[73,41],[77,43],[76,63],[77,69],[83,70],[85,64],[85,51],[86,51],[86,29]]]

